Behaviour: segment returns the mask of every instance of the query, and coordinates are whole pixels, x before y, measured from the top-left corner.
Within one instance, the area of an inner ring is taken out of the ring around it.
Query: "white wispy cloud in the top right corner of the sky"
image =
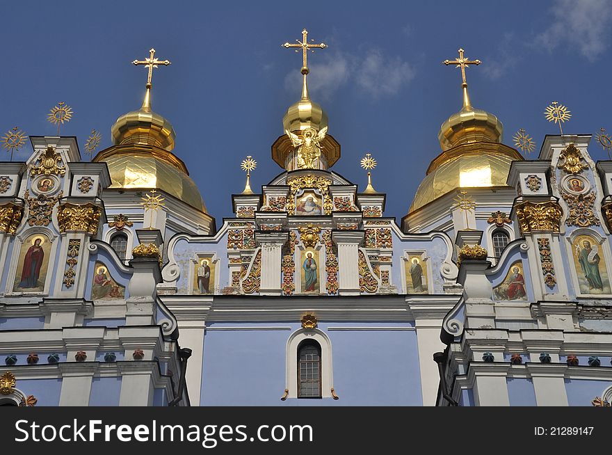
[[[595,61],[609,47],[612,34],[609,0],[556,0],[551,13],[552,23],[536,36],[536,45],[548,51],[561,45],[577,47],[589,61]]]

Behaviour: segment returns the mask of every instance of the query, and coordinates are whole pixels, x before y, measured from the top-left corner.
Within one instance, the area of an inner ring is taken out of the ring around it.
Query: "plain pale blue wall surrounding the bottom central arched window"
[[[416,333],[408,330],[327,330],[331,340],[333,378],[338,401],[280,401],[285,388],[287,340],[299,324],[282,322],[211,324],[277,326],[291,330],[207,330],[204,337],[202,406],[420,406],[421,382]],[[400,326],[376,323],[372,326]],[[402,327],[406,327],[403,324]]]

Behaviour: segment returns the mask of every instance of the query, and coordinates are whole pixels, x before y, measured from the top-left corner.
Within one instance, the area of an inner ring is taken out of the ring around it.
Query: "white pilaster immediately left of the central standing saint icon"
[[[259,294],[280,296],[282,246],[289,239],[289,232],[257,231],[255,240],[261,245],[261,283]]]

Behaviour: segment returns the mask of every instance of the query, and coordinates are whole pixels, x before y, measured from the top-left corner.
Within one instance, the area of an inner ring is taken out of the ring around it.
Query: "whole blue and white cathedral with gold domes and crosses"
[[[612,161],[589,135],[504,145],[461,50],[462,107],[397,224],[332,170],[306,38],[281,173],[219,226],[152,110],[153,49],[111,147],[31,136],[2,163],[0,404],[609,406]]]

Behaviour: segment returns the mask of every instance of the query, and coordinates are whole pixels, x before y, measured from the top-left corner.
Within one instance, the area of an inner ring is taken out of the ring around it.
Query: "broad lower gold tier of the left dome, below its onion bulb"
[[[111,189],[159,189],[206,212],[185,164],[167,150],[151,145],[115,145],[99,152],[92,161],[106,162]]]

